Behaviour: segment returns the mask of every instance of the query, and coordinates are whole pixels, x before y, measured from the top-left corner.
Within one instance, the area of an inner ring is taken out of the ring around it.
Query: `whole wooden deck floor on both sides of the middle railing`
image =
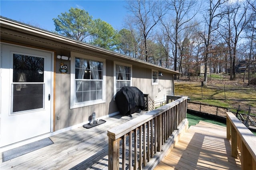
[[[116,115],[106,123],[85,129],[83,127],[50,137],[54,144],[0,163],[1,170],[24,169],[108,169],[107,130],[134,119]],[[232,158],[226,128],[204,122],[191,126],[174,149],[156,170],[163,169],[240,169],[238,159]],[[2,156],[2,154],[1,154]]]

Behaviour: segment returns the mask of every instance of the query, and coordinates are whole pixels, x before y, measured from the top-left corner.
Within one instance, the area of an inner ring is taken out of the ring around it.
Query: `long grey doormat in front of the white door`
[[[23,145],[21,147],[6,150],[5,152],[2,152],[2,161],[5,162],[7,160],[11,160],[11,159],[21,156],[23,154],[32,152],[34,150],[41,149],[43,147],[46,147],[46,146],[52,145],[52,144],[53,144],[53,142],[50,138],[45,138],[45,139],[41,139],[36,142],[29,143],[27,145]]]

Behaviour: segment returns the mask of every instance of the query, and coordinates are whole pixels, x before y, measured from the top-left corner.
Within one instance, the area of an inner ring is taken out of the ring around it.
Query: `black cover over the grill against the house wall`
[[[122,87],[116,93],[115,100],[122,115],[132,114],[145,108],[144,94],[137,87]]]

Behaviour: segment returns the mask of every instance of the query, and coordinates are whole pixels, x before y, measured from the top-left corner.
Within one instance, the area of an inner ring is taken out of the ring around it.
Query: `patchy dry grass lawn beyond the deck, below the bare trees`
[[[175,95],[188,96],[192,101],[215,106],[238,108],[240,105],[247,112],[251,106],[251,113],[256,113],[256,86],[247,86],[241,79],[208,78],[207,87],[202,87],[201,81],[203,78],[175,80]]]

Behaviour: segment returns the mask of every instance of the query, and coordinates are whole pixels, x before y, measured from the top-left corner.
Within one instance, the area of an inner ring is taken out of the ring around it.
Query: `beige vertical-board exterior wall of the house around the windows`
[[[70,56],[69,53],[63,54]],[[97,56],[98,57],[98,56]],[[61,61],[70,68],[70,61]],[[70,109],[70,71],[61,74],[58,71],[60,61],[56,63],[55,79],[55,128],[64,129],[73,125],[90,121],[90,115],[96,113],[96,117],[104,117],[111,113],[118,112],[114,101],[114,61],[106,60],[106,103]],[[158,77],[158,85],[152,85],[152,70],[140,66],[132,66],[132,86],[138,87],[144,94],[149,94],[153,100],[162,102],[166,98],[167,91],[173,89],[173,74],[163,73]],[[58,119],[59,117],[60,119]]]

